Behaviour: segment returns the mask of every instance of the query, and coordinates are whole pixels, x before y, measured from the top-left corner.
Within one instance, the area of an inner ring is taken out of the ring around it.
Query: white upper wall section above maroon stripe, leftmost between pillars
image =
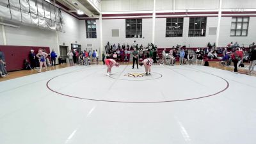
[[[101,1],[102,12],[152,10],[153,0]]]

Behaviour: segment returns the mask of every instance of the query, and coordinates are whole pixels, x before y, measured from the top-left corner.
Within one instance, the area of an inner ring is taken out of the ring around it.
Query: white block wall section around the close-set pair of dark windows
[[[187,47],[205,47],[208,42],[215,42],[216,35],[208,35],[209,27],[216,27],[218,22],[217,17],[207,17],[206,36],[189,37],[189,18],[184,18],[183,36],[182,37],[165,37],[166,33],[166,18],[156,19],[156,45],[157,47],[172,47],[179,45],[186,45]]]

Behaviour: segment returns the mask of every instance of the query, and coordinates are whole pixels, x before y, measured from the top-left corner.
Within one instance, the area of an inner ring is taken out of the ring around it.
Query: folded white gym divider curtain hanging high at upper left
[[[0,0],[0,18],[46,29],[63,30],[60,8],[44,0]]]

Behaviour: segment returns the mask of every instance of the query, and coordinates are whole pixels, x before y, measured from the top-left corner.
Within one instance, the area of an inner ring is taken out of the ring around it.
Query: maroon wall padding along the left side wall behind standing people
[[[35,53],[37,54],[38,49],[40,48],[45,49],[45,51],[49,54],[49,47],[0,45],[0,50],[4,52],[5,61],[7,63],[7,71],[23,69],[24,60],[29,60],[30,50],[35,50]]]

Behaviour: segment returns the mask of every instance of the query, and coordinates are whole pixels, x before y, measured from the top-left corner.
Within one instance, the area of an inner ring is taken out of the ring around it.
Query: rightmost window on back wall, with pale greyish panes
[[[247,36],[249,17],[232,17],[230,36]]]

